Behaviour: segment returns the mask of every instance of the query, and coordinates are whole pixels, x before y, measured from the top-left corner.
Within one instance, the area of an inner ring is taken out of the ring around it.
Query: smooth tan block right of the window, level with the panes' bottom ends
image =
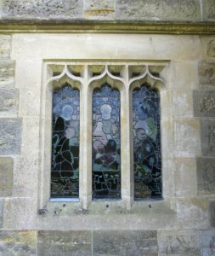
[[[174,189],[178,197],[195,197],[196,163],[194,158],[174,159]]]

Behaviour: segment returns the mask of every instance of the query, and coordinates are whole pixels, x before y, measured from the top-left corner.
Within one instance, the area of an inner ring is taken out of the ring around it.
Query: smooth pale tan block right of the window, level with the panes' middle
[[[174,155],[195,157],[201,153],[200,122],[197,119],[174,120]]]

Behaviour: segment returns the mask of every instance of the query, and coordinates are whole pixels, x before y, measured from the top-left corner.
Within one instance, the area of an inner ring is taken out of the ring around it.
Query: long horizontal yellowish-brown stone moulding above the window
[[[0,20],[0,33],[130,33],[213,35],[215,22]]]

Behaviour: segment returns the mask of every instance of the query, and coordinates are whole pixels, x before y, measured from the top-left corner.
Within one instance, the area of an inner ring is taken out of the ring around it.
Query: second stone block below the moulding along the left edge
[[[0,61],[0,88],[14,87],[14,61]]]

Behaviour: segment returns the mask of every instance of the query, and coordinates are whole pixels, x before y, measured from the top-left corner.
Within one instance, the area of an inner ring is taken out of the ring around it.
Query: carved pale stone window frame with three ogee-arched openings
[[[41,175],[39,208],[52,205],[58,206],[67,200],[59,202],[50,199],[50,172],[51,172],[51,134],[52,134],[52,93],[60,88],[65,82],[72,84],[80,90],[80,180],[79,180],[79,202],[72,202],[73,207],[88,209],[90,205],[106,203],[113,207],[120,206],[123,209],[131,209],[141,204],[156,203],[157,200],[133,201],[133,123],[132,123],[132,93],[133,89],[148,82],[152,88],[159,90],[161,94],[161,124],[164,108],[162,102],[164,97],[162,91],[165,87],[165,78],[162,71],[168,66],[168,61],[45,61],[44,76],[42,81],[42,109],[41,109]],[[103,67],[99,75],[97,68]],[[142,67],[144,73],[132,78],[131,73]],[[76,69],[76,70],[75,70]],[[96,69],[96,70],[94,70]],[[115,70],[116,69],[116,70]],[[79,75],[72,73],[79,72]],[[116,76],[114,72],[121,73]],[[159,73],[159,76],[156,74]],[[122,200],[121,201],[92,201],[92,94],[94,88],[99,88],[107,82],[111,87],[120,90],[121,93],[121,144],[122,148]],[[129,102],[129,103],[127,103]],[[88,106],[88,108],[84,108]],[[169,106],[170,108],[170,106]],[[169,132],[169,131],[168,131]],[[161,125],[161,145],[164,143],[163,133],[167,133]],[[163,148],[161,147],[161,150]],[[162,155],[166,154],[164,149]],[[165,158],[162,158],[162,177],[169,175]],[[167,192],[167,182],[163,180],[163,202],[170,204]],[[162,203],[157,201],[158,204]]]

